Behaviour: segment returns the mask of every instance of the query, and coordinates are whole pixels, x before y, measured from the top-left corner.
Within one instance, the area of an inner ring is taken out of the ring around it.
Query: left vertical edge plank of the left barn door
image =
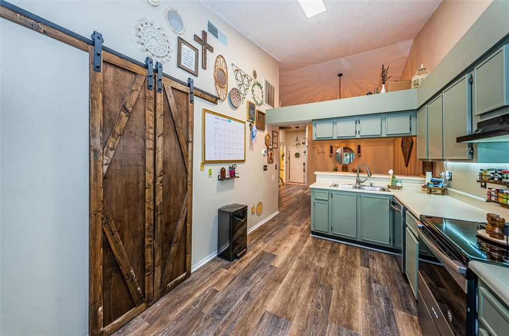
[[[89,48],[89,333],[102,329],[102,72],[94,71],[94,47]]]

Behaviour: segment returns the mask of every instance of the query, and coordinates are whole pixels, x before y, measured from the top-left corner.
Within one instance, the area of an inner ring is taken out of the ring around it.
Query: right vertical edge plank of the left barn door
[[[145,298],[154,294],[154,90],[145,86]]]

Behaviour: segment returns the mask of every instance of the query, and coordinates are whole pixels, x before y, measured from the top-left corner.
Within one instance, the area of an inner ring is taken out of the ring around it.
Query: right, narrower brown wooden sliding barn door
[[[156,93],[155,299],[191,273],[192,132],[189,88],[163,78]]]

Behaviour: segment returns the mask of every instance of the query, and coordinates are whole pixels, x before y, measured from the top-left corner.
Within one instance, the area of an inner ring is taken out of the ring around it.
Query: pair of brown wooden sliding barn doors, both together
[[[190,275],[193,105],[180,83],[164,78],[158,93],[147,69],[102,51],[95,71],[89,53],[89,328],[99,335]]]

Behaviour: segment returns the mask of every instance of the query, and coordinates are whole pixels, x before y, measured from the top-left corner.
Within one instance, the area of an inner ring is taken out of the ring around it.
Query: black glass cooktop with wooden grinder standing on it
[[[477,236],[476,222],[432,216],[421,218],[426,228],[454,251],[465,264],[471,260],[478,260],[509,267],[509,245]],[[505,229],[509,230],[509,226],[506,225]]]

